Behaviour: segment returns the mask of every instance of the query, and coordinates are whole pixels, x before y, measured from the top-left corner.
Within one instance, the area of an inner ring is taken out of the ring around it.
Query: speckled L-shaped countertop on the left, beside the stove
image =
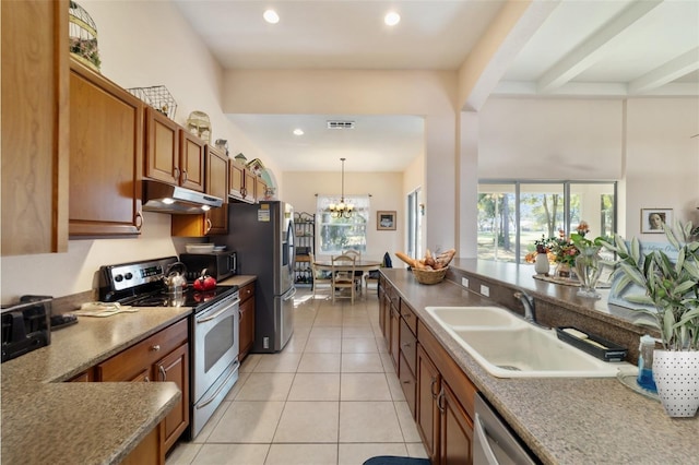
[[[52,332],[49,346],[2,363],[2,462],[121,462],[181,398],[177,385],[62,381],[189,314],[190,308],[141,308],[79,317]]]

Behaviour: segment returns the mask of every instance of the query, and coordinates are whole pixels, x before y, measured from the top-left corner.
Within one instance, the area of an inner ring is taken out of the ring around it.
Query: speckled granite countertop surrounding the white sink
[[[512,266],[476,260],[454,260],[450,266],[536,289],[561,303],[569,293],[557,289],[564,286],[533,279],[531,267],[520,273]],[[491,301],[450,281],[426,286],[407,270],[381,269],[381,273],[543,463],[697,463],[699,418],[670,418],[660,402],[635,393],[616,379],[495,378],[425,311],[429,306]]]

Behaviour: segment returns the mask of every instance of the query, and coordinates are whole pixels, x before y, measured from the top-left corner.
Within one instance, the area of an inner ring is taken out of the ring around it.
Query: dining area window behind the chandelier
[[[337,203],[336,196],[318,195],[318,241],[319,253],[337,255],[345,249],[366,252],[367,223],[370,205],[368,195],[346,196],[345,202],[354,205],[354,214],[350,218],[333,218],[328,210],[331,203]]]

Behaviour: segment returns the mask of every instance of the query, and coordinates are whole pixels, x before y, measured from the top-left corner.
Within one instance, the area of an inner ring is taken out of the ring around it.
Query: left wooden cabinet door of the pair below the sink
[[[415,422],[417,431],[423,438],[425,451],[429,461],[439,463],[439,408],[437,408],[437,396],[441,389],[441,377],[435,363],[429,359],[425,349],[417,345],[417,393]]]

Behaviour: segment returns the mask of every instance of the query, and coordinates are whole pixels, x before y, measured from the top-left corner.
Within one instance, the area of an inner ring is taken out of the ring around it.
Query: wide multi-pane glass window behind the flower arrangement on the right
[[[590,236],[616,231],[616,182],[482,181],[478,258],[522,263],[542,236],[569,235],[581,220]]]

